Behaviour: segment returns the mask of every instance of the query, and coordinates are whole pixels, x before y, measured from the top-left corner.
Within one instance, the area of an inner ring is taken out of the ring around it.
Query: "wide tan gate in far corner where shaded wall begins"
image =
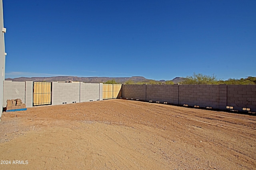
[[[103,99],[116,99],[122,97],[122,84],[103,84]]]

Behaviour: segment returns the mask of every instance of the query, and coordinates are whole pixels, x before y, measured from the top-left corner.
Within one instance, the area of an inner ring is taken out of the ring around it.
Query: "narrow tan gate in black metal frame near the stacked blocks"
[[[34,82],[33,106],[52,104],[52,83]]]

